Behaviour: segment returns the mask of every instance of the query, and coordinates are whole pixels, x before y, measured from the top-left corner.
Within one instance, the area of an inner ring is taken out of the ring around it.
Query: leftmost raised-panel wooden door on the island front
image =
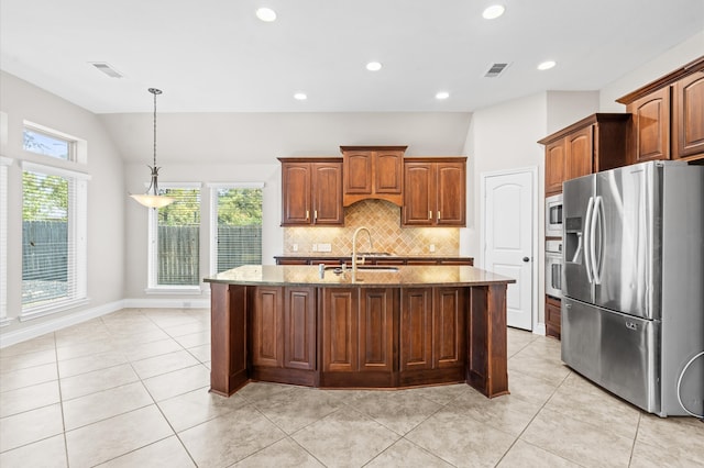
[[[283,288],[257,287],[253,294],[252,364],[264,367],[284,365]]]

